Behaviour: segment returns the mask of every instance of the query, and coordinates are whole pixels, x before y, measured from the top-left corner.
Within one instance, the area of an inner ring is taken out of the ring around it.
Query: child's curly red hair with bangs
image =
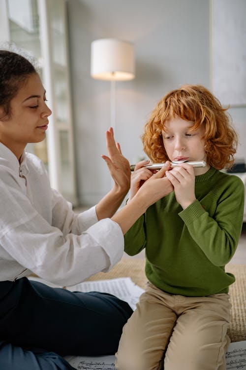
[[[201,85],[183,85],[162,98],[141,136],[144,151],[153,162],[168,160],[163,145],[165,122],[175,117],[194,122],[192,130],[204,127],[205,153],[210,166],[218,170],[232,167],[238,136],[231,118],[215,96]]]

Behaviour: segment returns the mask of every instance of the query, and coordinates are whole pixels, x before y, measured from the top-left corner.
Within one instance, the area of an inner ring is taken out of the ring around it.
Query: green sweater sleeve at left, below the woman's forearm
[[[140,253],[146,245],[145,215],[142,215],[124,235],[124,251],[129,256]]]

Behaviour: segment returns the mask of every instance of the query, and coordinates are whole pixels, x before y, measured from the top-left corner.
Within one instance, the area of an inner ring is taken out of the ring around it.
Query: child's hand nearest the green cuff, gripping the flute
[[[177,202],[183,209],[196,200],[195,174],[190,164],[181,163],[171,171],[166,172],[166,177],[174,186]]]

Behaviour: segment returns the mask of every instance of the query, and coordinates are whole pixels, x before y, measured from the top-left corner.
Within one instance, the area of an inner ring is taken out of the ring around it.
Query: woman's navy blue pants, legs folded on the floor
[[[0,282],[0,369],[71,370],[62,356],[114,354],[131,314],[106,293]]]

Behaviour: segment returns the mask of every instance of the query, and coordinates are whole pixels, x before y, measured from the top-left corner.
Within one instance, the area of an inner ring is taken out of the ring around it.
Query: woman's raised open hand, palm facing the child
[[[130,164],[129,161],[123,156],[120,144],[115,142],[114,131],[112,127],[106,131],[106,145],[108,156],[102,155],[101,157],[107,163],[110,175],[115,182],[114,189],[117,192],[126,194],[130,188]]]

